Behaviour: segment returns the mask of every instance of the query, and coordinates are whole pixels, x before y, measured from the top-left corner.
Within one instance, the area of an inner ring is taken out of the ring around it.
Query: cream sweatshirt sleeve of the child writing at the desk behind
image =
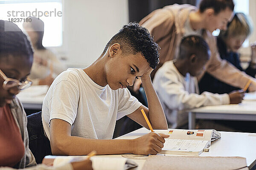
[[[155,80],[154,85],[157,87],[157,94],[161,96],[161,99],[169,109],[182,110],[230,103],[228,94],[212,94],[209,92],[204,92],[201,95],[196,93],[189,94],[173,72],[164,73]],[[194,83],[197,83],[197,81],[195,80]]]

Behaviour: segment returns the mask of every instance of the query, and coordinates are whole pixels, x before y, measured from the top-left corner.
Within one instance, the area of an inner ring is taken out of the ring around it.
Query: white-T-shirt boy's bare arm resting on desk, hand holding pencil
[[[50,143],[53,155],[87,155],[92,150],[96,150],[98,155],[157,154],[163,148],[166,137],[169,136],[148,133],[137,139],[85,139],[71,136],[71,125],[64,120],[52,119],[50,126]]]

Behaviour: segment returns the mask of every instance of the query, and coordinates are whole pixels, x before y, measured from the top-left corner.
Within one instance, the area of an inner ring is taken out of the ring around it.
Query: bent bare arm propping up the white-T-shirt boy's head
[[[151,71],[153,71],[153,69],[149,68],[149,70],[145,72],[141,77],[145,94],[148,100],[148,108],[142,105],[136,111],[127,116],[133,119],[135,122],[139,123],[140,125],[143,125],[144,127],[149,129],[143,117],[143,114],[140,111],[143,108],[146,115],[148,116],[149,121],[151,122],[153,129],[168,129],[166,116],[151,82]]]

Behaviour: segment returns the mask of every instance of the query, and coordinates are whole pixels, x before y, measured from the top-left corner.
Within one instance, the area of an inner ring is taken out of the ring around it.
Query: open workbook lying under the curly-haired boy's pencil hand
[[[165,139],[161,152],[169,154],[200,155],[212,141],[221,138],[221,133],[216,130],[168,129],[154,132],[170,136]]]

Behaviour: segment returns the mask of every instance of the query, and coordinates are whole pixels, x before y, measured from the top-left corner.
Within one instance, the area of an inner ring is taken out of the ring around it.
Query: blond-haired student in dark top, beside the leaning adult
[[[243,13],[235,13],[232,21],[228,23],[227,30],[221,30],[217,37],[218,52],[221,59],[225,59],[236,68],[244,71],[251,77],[255,77],[256,74],[256,46],[251,46],[251,61],[249,66],[244,70],[240,63],[240,54],[238,52],[241,48],[244,40],[246,40],[253,31],[252,23]],[[239,88],[232,85],[228,85],[218,79],[212,77],[212,75],[206,73],[199,82],[200,91],[209,91],[212,93],[229,93]]]

